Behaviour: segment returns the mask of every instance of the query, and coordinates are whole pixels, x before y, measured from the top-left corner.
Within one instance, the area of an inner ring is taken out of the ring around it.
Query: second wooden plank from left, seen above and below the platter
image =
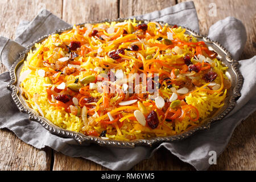
[[[90,0],[63,2],[63,20],[68,23],[83,23],[118,18],[117,0]],[[71,158],[54,152],[53,170],[106,170],[106,168],[82,158]]]

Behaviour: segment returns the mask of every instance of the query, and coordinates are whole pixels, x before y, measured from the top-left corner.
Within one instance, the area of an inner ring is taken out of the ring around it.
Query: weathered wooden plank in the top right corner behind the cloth
[[[179,0],[178,2],[189,1]],[[244,49],[241,59],[249,59],[256,55],[256,3],[254,0],[195,0],[197,15],[199,18],[200,31],[203,35],[208,35],[209,27],[220,19],[227,16],[234,16],[240,19],[245,25],[247,33],[246,49]],[[214,3],[210,5],[210,3]],[[213,6],[216,5],[216,15],[213,15]]]

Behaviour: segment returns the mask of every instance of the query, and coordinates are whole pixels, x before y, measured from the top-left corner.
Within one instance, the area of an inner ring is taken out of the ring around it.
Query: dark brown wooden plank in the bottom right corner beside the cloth
[[[209,170],[256,170],[256,112],[243,121],[230,139],[217,164]]]

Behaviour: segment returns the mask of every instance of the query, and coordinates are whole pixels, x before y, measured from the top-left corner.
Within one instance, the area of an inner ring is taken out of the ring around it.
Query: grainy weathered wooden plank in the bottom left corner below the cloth
[[[0,133],[0,170],[49,170],[52,151],[38,150],[6,129]]]

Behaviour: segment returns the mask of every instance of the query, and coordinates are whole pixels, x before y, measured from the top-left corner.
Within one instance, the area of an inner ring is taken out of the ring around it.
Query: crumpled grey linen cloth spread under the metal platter
[[[54,32],[57,28],[70,26],[57,18],[49,11],[44,10],[46,16],[36,16],[32,22],[20,23],[15,41],[0,38],[0,58],[8,69],[18,58],[18,53],[24,47],[45,34]],[[40,13],[42,14],[42,13]],[[193,2],[179,3],[161,11],[154,11],[138,18],[163,20],[170,24],[179,24],[199,32],[197,14]],[[218,40],[238,59],[246,42],[245,27],[232,17],[220,20],[209,29],[209,38]],[[36,148],[46,146],[72,157],[82,157],[92,160],[113,170],[127,170],[143,159],[150,158],[160,147],[167,148],[178,158],[194,166],[197,170],[205,170],[210,164],[209,151],[221,154],[229,142],[237,125],[255,111],[256,108],[256,56],[249,60],[240,61],[240,71],[244,77],[241,90],[242,96],[237,101],[233,114],[222,121],[216,122],[208,130],[198,131],[192,137],[177,141],[164,142],[154,147],[137,146],[135,148],[102,147],[97,144],[80,146],[74,139],[61,138],[49,133],[39,123],[28,121],[28,115],[20,113],[11,98],[10,90],[6,85],[10,81],[9,72],[0,75],[0,129],[7,128],[13,131],[18,138]]]

